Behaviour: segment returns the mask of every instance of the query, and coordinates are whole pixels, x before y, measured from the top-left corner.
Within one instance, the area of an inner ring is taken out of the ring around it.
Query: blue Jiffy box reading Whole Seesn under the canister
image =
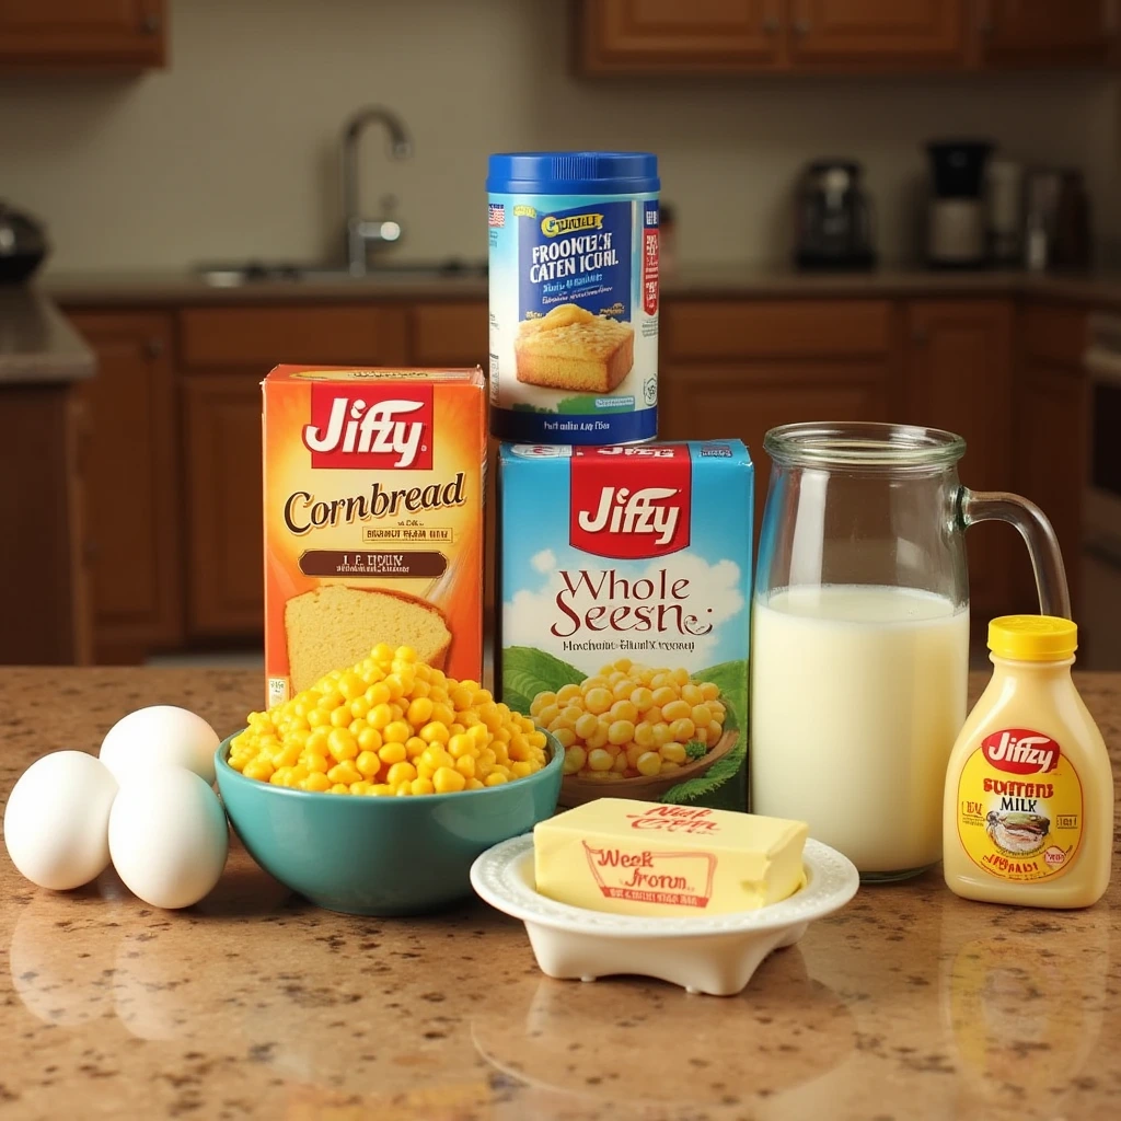
[[[563,805],[747,809],[752,465],[739,441],[503,444],[495,686]]]

